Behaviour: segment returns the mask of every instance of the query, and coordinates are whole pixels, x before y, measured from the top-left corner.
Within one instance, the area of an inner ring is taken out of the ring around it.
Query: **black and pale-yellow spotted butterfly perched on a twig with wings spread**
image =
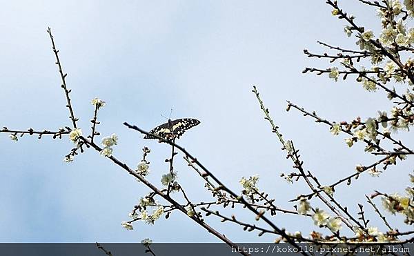
[[[158,135],[164,139],[178,139],[184,132],[200,124],[200,121],[193,118],[181,118],[170,120],[150,130],[153,135]],[[152,135],[145,135],[144,139],[158,139]]]

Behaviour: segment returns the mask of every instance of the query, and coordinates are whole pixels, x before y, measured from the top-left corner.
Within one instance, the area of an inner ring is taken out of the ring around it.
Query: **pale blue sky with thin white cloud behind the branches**
[[[357,22],[378,28],[372,8],[361,8],[357,1],[346,1],[344,7]],[[70,125],[46,33],[50,26],[81,128],[89,130],[90,100],[105,100],[98,130],[104,136],[119,135],[116,157],[135,166],[141,148],[150,147],[150,180],[161,186],[159,179],[168,172],[168,148],[144,141],[122,123],[150,130],[165,121],[160,114],[168,115],[173,108],[172,118],[201,120],[179,144],[230,188],[240,190],[240,177],[258,173],[259,188],[273,195],[279,206],[293,208],[288,199],[308,193],[308,188],[279,178],[292,171],[291,163],[251,88],[257,85],[284,136],[295,141],[306,168],[324,184],[353,173],[355,164],[373,161],[362,145],[350,150],[345,137],[333,137],[326,126],[285,111],[290,100],[342,121],[374,116],[391,106],[382,92],[366,92],[351,80],[335,83],[326,76],[302,75],[305,66],[331,66],[303,55],[304,48],[323,51],[317,40],[354,47],[342,31],[344,25],[322,0],[3,1],[0,125],[36,130]],[[128,220],[139,197],[149,190],[92,150],[64,163],[72,146],[67,138],[23,137],[14,143],[0,135],[0,144],[0,242],[136,242],[145,237],[154,242],[217,242],[180,213],[154,226],[121,228],[121,221]],[[337,197],[356,213],[357,202],[364,202],[364,194],[373,189],[401,192],[410,164],[406,161],[377,179],[363,175],[351,188],[338,188]],[[182,159],[176,170],[192,199],[211,199]],[[235,213],[246,221],[254,219]],[[311,219],[285,215],[274,220],[290,231],[313,225]],[[208,221],[235,242],[273,241],[214,217]],[[390,221],[397,224],[401,219]],[[380,226],[375,219],[371,222]],[[183,226],[186,232],[181,232]]]

